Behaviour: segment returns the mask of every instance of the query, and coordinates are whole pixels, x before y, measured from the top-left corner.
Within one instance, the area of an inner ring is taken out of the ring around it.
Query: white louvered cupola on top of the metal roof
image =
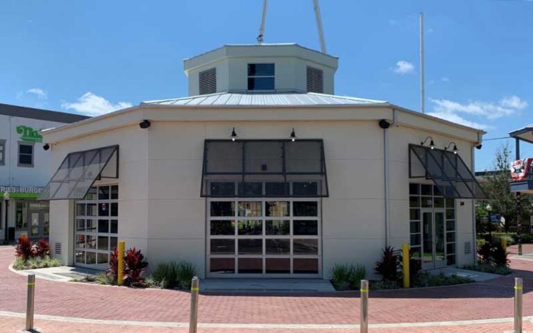
[[[183,67],[189,96],[217,92],[334,94],[339,59],[298,44],[224,45]]]

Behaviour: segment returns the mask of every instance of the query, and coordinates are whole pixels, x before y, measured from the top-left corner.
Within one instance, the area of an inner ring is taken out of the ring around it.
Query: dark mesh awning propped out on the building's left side
[[[81,199],[100,178],[118,178],[119,146],[69,153],[44,187],[40,200]]]

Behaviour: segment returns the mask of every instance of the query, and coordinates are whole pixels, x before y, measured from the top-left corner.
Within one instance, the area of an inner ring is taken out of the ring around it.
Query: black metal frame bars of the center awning
[[[227,142],[228,144],[235,144],[235,143],[241,143],[242,144],[242,171],[241,172],[207,172],[206,169],[208,167],[208,144],[211,142]],[[282,172],[246,172],[246,143],[248,142],[279,142],[282,143]],[[286,144],[294,144],[297,142],[316,142],[320,146],[320,172],[287,172],[287,153],[285,146]],[[320,194],[317,193],[315,196],[310,196],[308,194],[302,195],[302,196],[294,196],[292,194],[283,194],[281,196],[271,196],[262,194],[261,196],[253,195],[249,197],[280,197],[280,198],[322,198],[322,197],[328,197],[329,196],[329,187],[328,187],[328,173],[326,171],[325,167],[325,154],[324,154],[324,142],[323,139],[297,139],[296,141],[293,141],[292,139],[236,139],[235,141],[231,139],[206,139],[204,141],[204,148],[203,148],[203,162],[202,162],[202,178],[201,178],[201,185],[200,185],[200,193],[201,197],[212,197],[208,194],[207,189],[205,188],[205,176],[241,176],[240,182],[246,183],[245,176],[283,176],[283,183],[286,184],[286,186],[289,184],[287,182],[287,176],[320,176],[322,178],[321,182],[325,182],[325,184],[321,184],[321,187],[323,186],[323,191],[320,191]],[[235,194],[234,196],[221,196],[220,198],[232,198],[232,197],[242,197],[246,198],[248,196],[241,196]]]

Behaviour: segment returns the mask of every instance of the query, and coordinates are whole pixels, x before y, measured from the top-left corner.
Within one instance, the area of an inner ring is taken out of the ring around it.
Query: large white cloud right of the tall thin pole
[[[504,97],[498,102],[473,101],[458,103],[447,99],[431,99],[430,101],[434,104],[432,112],[429,113],[430,115],[480,129],[491,128],[491,126],[468,120],[462,114],[483,120],[494,120],[513,116],[527,108],[527,102],[514,95]]]

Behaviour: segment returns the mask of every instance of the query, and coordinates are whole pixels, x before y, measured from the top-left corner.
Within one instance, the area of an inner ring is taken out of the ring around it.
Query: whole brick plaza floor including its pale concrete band
[[[512,259],[516,246],[509,250]],[[526,244],[524,252],[532,253],[533,245]],[[9,271],[12,259],[12,248],[0,249],[0,332],[24,327],[26,277]],[[483,283],[371,291],[370,332],[511,330],[516,276],[524,279],[524,316],[533,315],[533,257],[513,259],[511,268],[513,275]],[[35,313],[35,326],[41,332],[188,332],[189,293],[37,280]],[[487,319],[498,320],[488,323]],[[359,294],[351,292],[201,295],[199,300],[198,323],[202,325],[198,332],[359,332],[348,326],[358,321]],[[462,323],[450,323],[454,321]],[[400,327],[400,323],[415,324]],[[533,325],[525,322],[524,329],[533,331]]]

